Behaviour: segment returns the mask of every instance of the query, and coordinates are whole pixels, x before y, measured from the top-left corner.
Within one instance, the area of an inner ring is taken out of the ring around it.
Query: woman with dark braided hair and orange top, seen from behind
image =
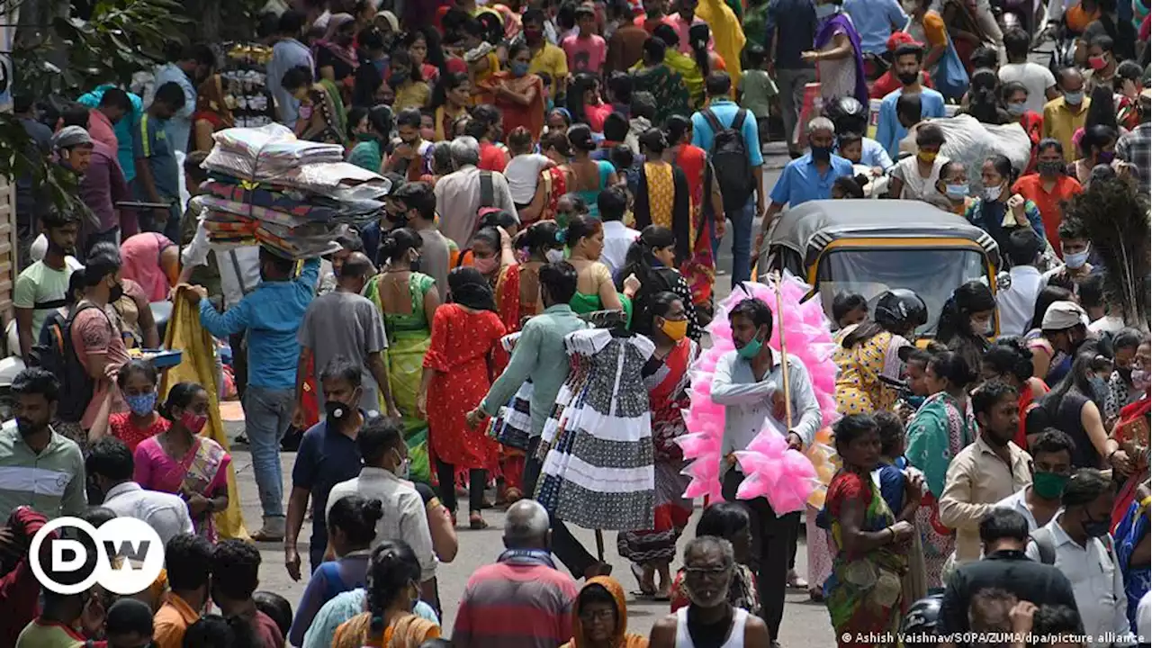
[[[417,617],[420,563],[403,541],[385,541],[372,550],[367,572],[367,611],[344,621],[333,648],[417,648],[440,636],[440,626]]]

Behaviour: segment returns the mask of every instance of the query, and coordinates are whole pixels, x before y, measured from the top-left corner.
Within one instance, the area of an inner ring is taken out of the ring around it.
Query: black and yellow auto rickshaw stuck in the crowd
[[[786,270],[804,278],[829,318],[840,293],[863,295],[871,310],[885,291],[915,291],[929,307],[919,337],[935,332],[945,302],[960,285],[984,280],[995,293],[1000,269],[996,242],[987,232],[919,201],[804,203],[780,214],[760,254],[761,281]],[[1007,273],[999,280],[1006,287]]]

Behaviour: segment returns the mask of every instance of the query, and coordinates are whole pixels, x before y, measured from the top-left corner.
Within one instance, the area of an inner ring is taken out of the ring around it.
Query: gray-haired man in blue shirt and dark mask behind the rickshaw
[[[836,127],[832,120],[818,116],[808,122],[808,153],[788,163],[772,188],[772,204],[764,216],[760,233],[756,236],[752,258],[760,256],[764,238],[785,205],[795,208],[809,201],[832,198],[832,184],[838,178],[852,174],[852,163],[833,155],[836,144]]]

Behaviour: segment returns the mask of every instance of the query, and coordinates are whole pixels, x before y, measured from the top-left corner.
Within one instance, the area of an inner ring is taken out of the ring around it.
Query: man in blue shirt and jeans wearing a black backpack
[[[704,89],[708,96],[707,110],[715,115],[717,121],[725,128],[730,128],[741,112],[741,107],[732,100],[732,77],[726,71],[714,71],[705,81]],[[725,218],[732,220],[732,285],[748,281],[752,274],[752,223],[756,216],[764,216],[767,209],[764,195],[764,155],[760,152],[760,134],[756,126],[756,116],[744,111],[744,123],[740,129],[744,137],[744,149],[748,151],[748,161],[752,167],[753,187],[756,193],[756,211],[752,211],[751,199],[749,204],[740,209],[725,206]],[[692,145],[704,149],[712,158],[712,142],[715,138],[715,130],[708,121],[704,111],[692,115]],[[725,201],[728,202],[727,199]],[[713,253],[718,251],[720,242],[713,238]]]

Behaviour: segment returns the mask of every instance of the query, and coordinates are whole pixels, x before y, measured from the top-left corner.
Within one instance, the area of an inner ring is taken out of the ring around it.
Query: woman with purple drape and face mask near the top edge
[[[820,95],[825,101],[834,97],[856,97],[867,105],[867,80],[864,77],[864,58],[861,53],[861,37],[851,18],[841,13],[841,0],[820,0],[816,5],[819,27],[816,50],[804,52],[801,58],[816,63],[820,76]]]

